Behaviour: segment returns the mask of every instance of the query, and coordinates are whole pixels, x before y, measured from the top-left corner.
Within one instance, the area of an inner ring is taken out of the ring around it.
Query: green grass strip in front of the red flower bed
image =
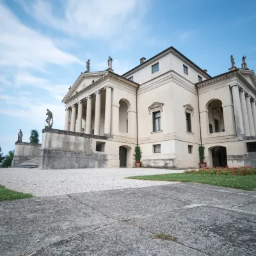
[[[127,177],[126,179],[196,182],[196,183],[204,183],[204,184],[210,184],[214,186],[227,187],[227,188],[256,190],[256,175],[236,176],[236,175],[170,173],[170,174],[160,174],[160,175],[134,176],[134,177]]]

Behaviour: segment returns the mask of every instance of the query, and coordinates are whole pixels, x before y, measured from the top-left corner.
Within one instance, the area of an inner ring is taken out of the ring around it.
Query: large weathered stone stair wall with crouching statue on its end
[[[93,149],[93,140],[107,137],[48,128],[42,133],[38,168],[108,168],[108,155]]]

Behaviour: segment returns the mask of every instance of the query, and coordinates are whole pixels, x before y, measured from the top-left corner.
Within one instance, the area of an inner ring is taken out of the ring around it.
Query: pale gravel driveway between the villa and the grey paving
[[[40,170],[38,168],[0,169],[0,184],[16,191],[35,196],[66,195],[120,188],[139,188],[172,184],[177,182],[129,180],[134,175],[179,173],[183,170],[164,170],[152,168],[116,169],[70,169]]]

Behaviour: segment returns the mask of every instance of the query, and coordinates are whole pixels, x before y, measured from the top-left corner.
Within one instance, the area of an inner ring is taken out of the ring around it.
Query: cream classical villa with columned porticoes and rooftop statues
[[[202,144],[208,166],[255,166],[256,77],[245,56],[215,77],[173,47],[122,76],[110,57],[108,66],[90,72],[87,61],[62,100],[65,129],[45,127],[42,145],[17,142],[17,163],[36,147],[43,169],[132,167],[139,145],[142,166],[197,168]]]

